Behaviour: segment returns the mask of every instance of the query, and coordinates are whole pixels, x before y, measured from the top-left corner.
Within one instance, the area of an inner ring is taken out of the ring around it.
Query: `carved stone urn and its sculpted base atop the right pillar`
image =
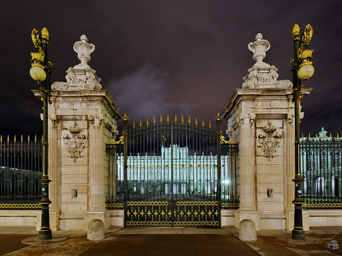
[[[292,88],[292,83],[289,80],[279,80],[277,68],[270,66],[262,60],[266,57],[266,52],[271,45],[265,39],[262,39],[262,34],[257,34],[255,42],[248,44],[248,49],[253,53],[253,60],[256,63],[252,68],[248,69],[247,75],[243,78],[243,89],[253,88]]]

